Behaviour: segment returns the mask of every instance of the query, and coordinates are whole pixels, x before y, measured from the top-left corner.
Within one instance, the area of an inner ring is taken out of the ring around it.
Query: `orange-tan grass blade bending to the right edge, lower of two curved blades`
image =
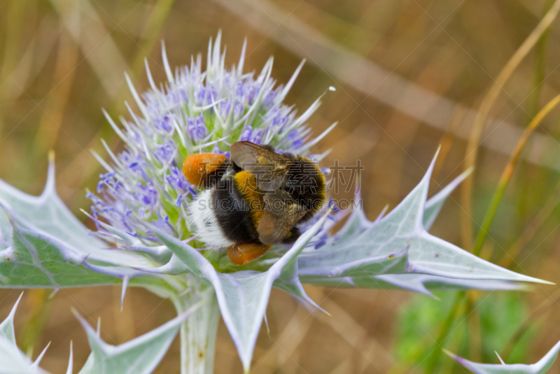
[[[525,148],[529,136],[531,136],[531,133],[533,133],[533,131],[540,124],[540,122],[542,122],[542,120],[546,117],[546,115],[550,113],[550,111],[554,109],[559,103],[560,103],[560,95],[557,95],[556,97],[554,97],[554,99],[549,101],[547,105],[545,105],[545,107],[542,108],[539,113],[537,113],[537,115],[535,115],[535,118],[531,120],[531,123],[529,123],[525,131],[523,131],[521,138],[519,138],[519,141],[517,142],[517,145],[515,146],[515,149],[511,154],[510,159],[509,161],[507,161],[507,165],[503,170],[503,173],[500,177],[500,181],[498,182],[498,187],[496,188],[496,192],[494,192],[492,196],[490,206],[488,210],[486,210],[486,215],[484,215],[484,220],[482,221],[482,225],[478,232],[475,245],[472,249],[472,253],[479,254],[480,250],[482,249],[482,245],[484,244],[484,239],[486,239],[486,234],[488,233],[490,224],[492,223],[493,217],[496,214],[496,210],[498,209],[498,204],[502,199],[505,186],[507,185],[507,182],[509,182],[510,179],[512,178],[512,174],[515,166],[517,165],[517,160],[519,159],[519,155],[521,154],[521,151]]]

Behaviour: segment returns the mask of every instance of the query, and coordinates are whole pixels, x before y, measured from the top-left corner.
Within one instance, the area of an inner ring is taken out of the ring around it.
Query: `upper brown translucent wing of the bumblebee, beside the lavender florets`
[[[258,188],[263,192],[272,192],[283,185],[288,162],[292,161],[282,154],[248,141],[233,143],[230,158],[239,168],[255,175]]]

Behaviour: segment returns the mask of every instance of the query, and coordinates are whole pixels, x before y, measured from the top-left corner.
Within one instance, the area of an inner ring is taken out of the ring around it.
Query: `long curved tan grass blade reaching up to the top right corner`
[[[535,46],[538,42],[542,34],[548,29],[552,21],[558,15],[560,11],[560,0],[556,0],[554,5],[549,9],[545,17],[542,17],[542,20],[539,22],[537,27],[533,29],[531,34],[525,39],[525,41],[519,46],[517,51],[515,51],[514,55],[510,59],[510,61],[505,64],[502,71],[498,75],[498,78],[493,82],[493,85],[490,87],[489,91],[484,96],[484,100],[482,101],[482,105],[480,106],[480,110],[477,113],[477,117],[475,118],[475,122],[472,127],[472,132],[470,134],[470,139],[467,145],[467,152],[465,157],[465,170],[475,166],[477,161],[478,155],[478,147],[480,136],[482,135],[482,131],[484,130],[484,124],[486,124],[486,120],[488,120],[488,116],[490,114],[490,110],[493,107],[494,103],[496,103],[496,99],[498,99],[498,95],[503,90],[503,85],[505,82],[510,78],[514,70],[519,66],[521,61],[526,57],[528,52]],[[519,144],[519,143],[518,143]],[[461,189],[461,203],[463,208],[466,210],[466,214],[470,214],[470,207],[471,207],[471,199],[472,199],[472,175],[470,178],[467,178],[465,182],[463,182],[463,187]],[[484,225],[480,229],[480,233],[483,233],[486,236],[486,232],[483,232]],[[479,233],[479,238],[480,238]],[[473,247],[472,252],[477,254],[480,252],[482,248],[482,243],[479,243],[479,238],[477,238],[475,247]]]

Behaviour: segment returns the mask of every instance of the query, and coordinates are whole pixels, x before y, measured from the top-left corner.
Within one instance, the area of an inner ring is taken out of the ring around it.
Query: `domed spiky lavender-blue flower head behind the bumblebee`
[[[228,156],[236,141],[305,154],[332,129],[309,141],[310,129],[305,122],[318,108],[320,98],[300,116],[293,106],[283,103],[303,62],[286,86],[276,85],[271,77],[272,58],[258,75],[244,73],[244,44],[239,64],[228,69],[220,41],[220,34],[214,44],[210,41],[206,71],[202,71],[202,56],[198,55],[190,66],[172,73],[163,48],[169,81],[158,88],[146,62],[151,89],[142,96],[127,76],[141,115],[127,105],[132,120],[121,119],[122,127],[118,127],[105,113],[123,139],[125,150],[115,155],[106,147],[112,164],[96,156],[106,168],[96,193],[87,193],[93,202],[97,236],[126,244],[116,235],[118,229],[145,245],[157,245],[158,239],[146,226],[149,222],[176,238],[188,239],[193,235],[188,205],[197,194],[197,187],[181,173],[189,154],[219,152]],[[110,226],[102,224],[101,217]]]

